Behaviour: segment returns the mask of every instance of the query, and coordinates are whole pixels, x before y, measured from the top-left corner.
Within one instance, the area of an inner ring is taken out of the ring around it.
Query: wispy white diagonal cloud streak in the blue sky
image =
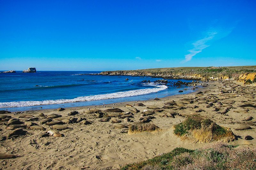
[[[204,48],[209,47],[210,45],[207,45],[206,43],[208,41],[212,40],[215,37],[216,34],[218,34],[217,31],[207,32],[207,35],[203,39],[200,39],[200,40],[197,40],[197,41],[193,42],[192,45],[194,46],[194,48],[188,50],[188,52],[190,52],[190,53],[185,55],[185,61],[184,62],[190,61],[193,56],[202,52],[202,50]]]

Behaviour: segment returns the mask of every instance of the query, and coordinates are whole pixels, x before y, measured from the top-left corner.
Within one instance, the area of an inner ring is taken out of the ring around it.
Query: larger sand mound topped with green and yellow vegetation
[[[225,128],[212,122],[212,120],[199,115],[189,116],[183,122],[174,125],[174,134],[195,142],[230,142],[236,139],[230,128]]]

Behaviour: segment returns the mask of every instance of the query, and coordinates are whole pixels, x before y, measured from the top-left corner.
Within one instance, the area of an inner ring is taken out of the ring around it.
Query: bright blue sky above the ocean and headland
[[[256,65],[256,1],[0,0],[0,70]]]

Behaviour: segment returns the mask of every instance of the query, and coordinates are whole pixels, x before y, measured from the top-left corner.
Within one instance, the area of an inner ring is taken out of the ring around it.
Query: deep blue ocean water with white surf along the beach
[[[100,105],[178,94],[180,88],[156,84],[159,78],[103,76],[100,71],[0,73],[0,108],[11,111]],[[128,78],[129,80],[125,80]],[[150,82],[142,82],[150,80]],[[169,82],[178,80],[169,79]],[[189,82],[190,80],[182,80]],[[188,89],[183,93],[189,93]],[[180,94],[180,93],[179,93]]]

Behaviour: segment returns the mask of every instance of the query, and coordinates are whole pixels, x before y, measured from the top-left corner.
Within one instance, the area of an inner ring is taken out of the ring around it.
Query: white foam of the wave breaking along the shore
[[[126,92],[116,92],[116,93],[110,93],[110,94],[98,94],[98,95],[93,95],[93,96],[82,96],[82,97],[77,97],[75,99],[2,102],[2,103],[0,103],[0,108],[51,105],[51,104],[72,103],[72,102],[81,102],[81,101],[92,101],[92,100],[106,100],[106,99],[114,99],[114,98],[131,97],[131,96],[149,94],[149,93],[159,92],[161,90],[165,90],[168,88],[166,85],[154,85],[154,84],[147,84],[147,85],[155,86],[156,88],[131,90],[131,91],[126,91]]]

